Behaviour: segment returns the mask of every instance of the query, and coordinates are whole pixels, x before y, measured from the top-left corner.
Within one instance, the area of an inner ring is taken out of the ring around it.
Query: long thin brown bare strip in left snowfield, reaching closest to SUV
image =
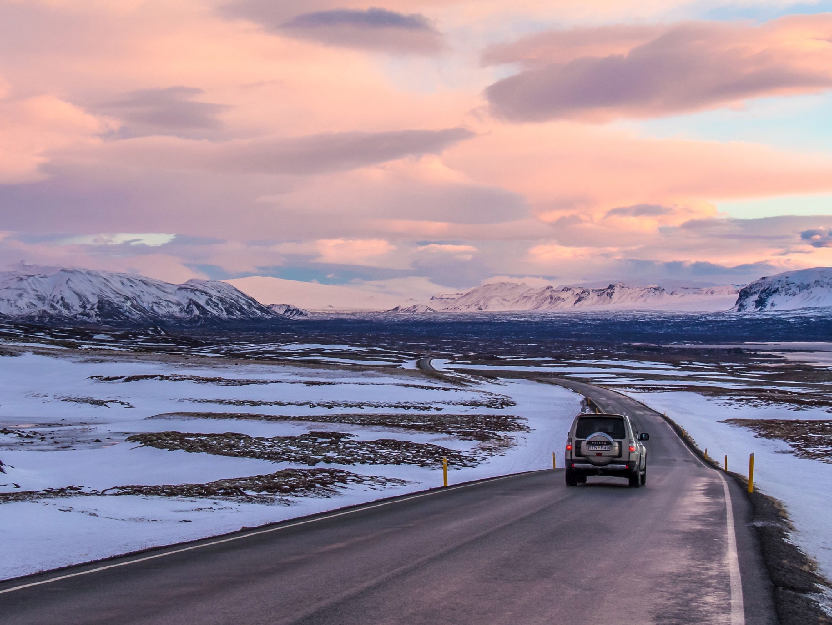
[[[175,412],[156,414],[151,419],[248,419],[252,421],[303,421],[364,425],[368,427],[414,429],[448,434],[463,440],[497,441],[504,434],[528,432],[525,419],[514,414],[250,414],[238,412]]]

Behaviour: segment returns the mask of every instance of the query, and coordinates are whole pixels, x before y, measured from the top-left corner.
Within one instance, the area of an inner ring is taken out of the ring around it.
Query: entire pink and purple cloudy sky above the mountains
[[[0,265],[428,293],[832,265],[832,2],[5,0]]]

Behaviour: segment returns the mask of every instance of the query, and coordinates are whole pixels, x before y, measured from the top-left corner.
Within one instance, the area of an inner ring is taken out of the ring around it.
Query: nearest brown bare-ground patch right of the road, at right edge
[[[832,464],[832,419],[725,419],[720,423],[741,425],[759,438],[784,440],[798,458]]]

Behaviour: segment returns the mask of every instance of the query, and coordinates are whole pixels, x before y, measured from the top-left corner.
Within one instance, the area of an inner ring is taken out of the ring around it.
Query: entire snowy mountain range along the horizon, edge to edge
[[[267,281],[265,293],[276,301],[292,301],[290,293],[309,293],[308,283],[280,286],[291,280]],[[257,283],[260,285],[260,283]],[[263,285],[260,285],[261,287]],[[329,294],[358,306],[387,304],[382,310],[403,314],[486,311],[656,310],[679,312],[765,312],[828,308],[832,310],[832,267],[815,267],[766,276],[737,288],[722,286],[631,286],[615,282],[602,288],[581,285],[532,287],[523,282],[491,282],[464,292],[434,295],[426,303],[413,298],[361,292],[332,285],[313,292],[324,302]],[[292,289],[295,289],[292,291]],[[356,293],[358,295],[356,295]],[[284,297],[285,295],[285,297]],[[358,297],[359,299],[355,299]],[[279,299],[278,299],[279,298]],[[322,299],[323,298],[323,299]],[[313,298],[314,299],[314,298]],[[304,307],[305,308],[305,307]],[[17,265],[0,271],[0,321],[40,325],[102,325],[162,328],[232,327],[302,320],[311,315],[297,302],[268,304],[230,281],[187,280],[180,285],[141,275],[71,267]],[[334,305],[328,306],[335,311]],[[342,309],[343,310],[343,309]],[[349,309],[348,309],[349,310]],[[364,308],[371,311],[373,309]]]

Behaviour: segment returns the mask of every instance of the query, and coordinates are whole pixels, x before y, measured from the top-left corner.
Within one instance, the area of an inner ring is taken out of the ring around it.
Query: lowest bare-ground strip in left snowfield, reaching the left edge
[[[290,503],[285,498],[332,497],[339,493],[339,489],[352,484],[365,485],[374,489],[404,485],[408,482],[404,479],[354,474],[344,469],[283,469],[271,474],[253,475],[249,478],[218,479],[207,484],[128,485],[104,490],[67,486],[61,489],[0,493],[0,503],[85,495],[141,495],[144,497],[230,499],[254,503]]]

